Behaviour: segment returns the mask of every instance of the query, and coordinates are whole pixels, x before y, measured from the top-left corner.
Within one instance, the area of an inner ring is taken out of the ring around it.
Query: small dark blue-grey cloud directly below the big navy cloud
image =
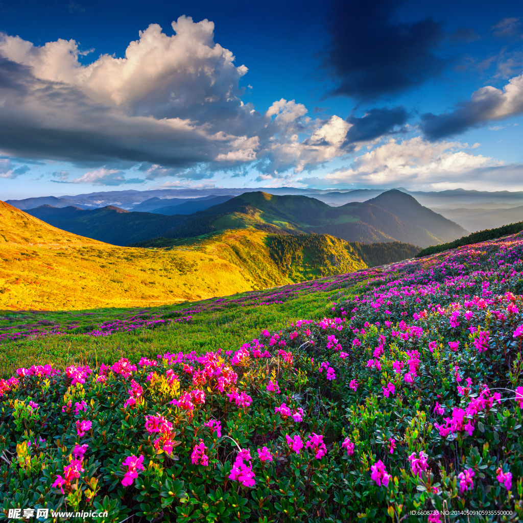
[[[367,111],[367,114],[362,118],[349,116],[347,122],[349,122],[352,127],[347,132],[344,145],[355,142],[366,142],[379,138],[384,134],[390,134],[396,126],[403,126],[407,118],[408,113],[404,107],[371,109]]]

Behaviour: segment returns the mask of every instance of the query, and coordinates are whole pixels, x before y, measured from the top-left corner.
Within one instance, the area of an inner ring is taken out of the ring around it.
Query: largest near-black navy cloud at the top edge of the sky
[[[332,41],[324,65],[338,84],[331,95],[375,99],[420,85],[446,65],[435,51],[444,37],[431,18],[393,20],[399,3],[338,2],[331,16]]]

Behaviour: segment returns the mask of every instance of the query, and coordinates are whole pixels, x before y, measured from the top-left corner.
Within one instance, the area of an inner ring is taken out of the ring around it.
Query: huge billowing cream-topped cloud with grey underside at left
[[[123,58],[105,54],[87,65],[74,40],[37,47],[0,34],[3,152],[89,173],[142,165],[148,179],[201,179],[246,164],[300,172],[344,152],[355,123],[311,119],[303,104],[283,98],[256,111],[241,99],[247,67],[214,42],[213,22],[181,16],[172,26],[167,36],[151,24]],[[106,173],[93,183],[126,180]]]

